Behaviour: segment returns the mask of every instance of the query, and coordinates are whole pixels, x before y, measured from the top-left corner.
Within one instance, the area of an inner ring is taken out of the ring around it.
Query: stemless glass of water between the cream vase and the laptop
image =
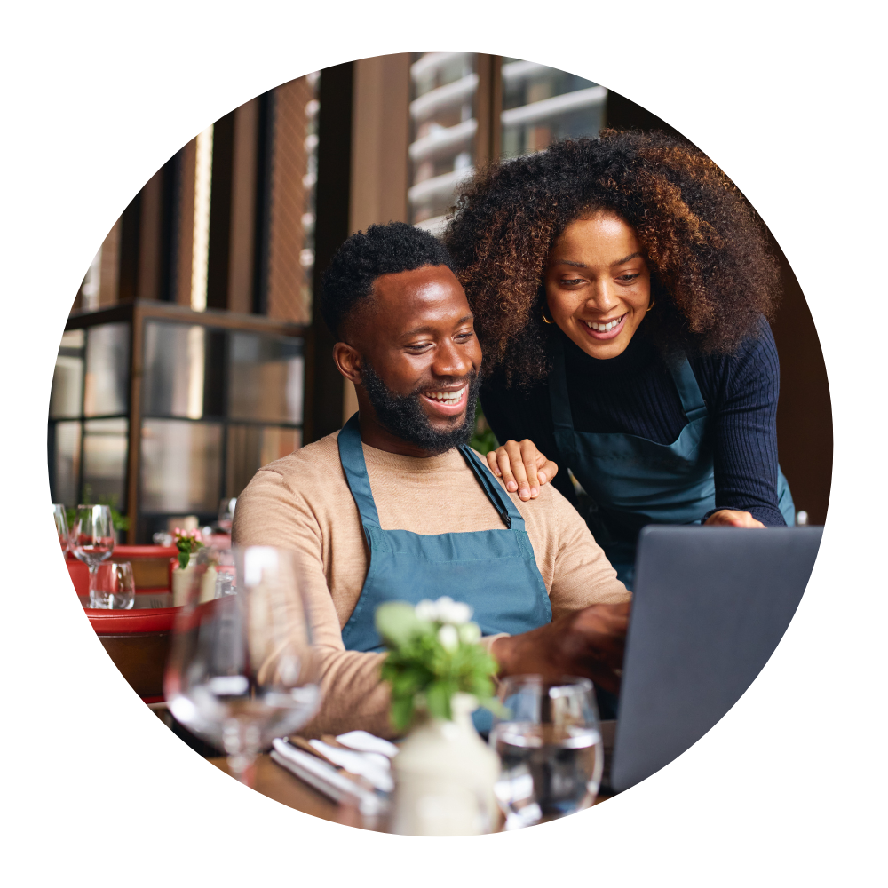
[[[498,696],[507,714],[495,718],[490,743],[502,762],[495,791],[505,828],[589,807],[604,765],[591,681],[514,676],[503,679]]]

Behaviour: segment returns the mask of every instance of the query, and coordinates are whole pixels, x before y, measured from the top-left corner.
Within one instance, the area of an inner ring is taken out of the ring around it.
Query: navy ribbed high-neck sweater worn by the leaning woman
[[[560,331],[567,391],[577,432],[622,432],[671,444],[687,424],[675,383],[644,337],[609,361],[583,352]],[[709,409],[715,458],[716,507],[749,511],[769,527],[785,524],[777,508],[777,396],[780,364],[771,328],[730,356],[692,358]],[[575,503],[567,462],[553,434],[546,383],[529,391],[488,377],[481,407],[497,440],[529,438],[559,464],[553,484]],[[715,510],[713,510],[715,511]],[[711,512],[707,513],[707,516]]]

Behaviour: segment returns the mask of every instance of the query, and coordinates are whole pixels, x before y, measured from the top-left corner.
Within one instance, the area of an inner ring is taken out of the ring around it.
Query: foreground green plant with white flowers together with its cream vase
[[[472,609],[449,598],[377,609],[388,649],[382,678],[392,689],[392,723],[408,731],[394,758],[392,832],[472,836],[496,829],[496,752],[472,725],[472,711],[501,710],[496,660],[478,644]]]

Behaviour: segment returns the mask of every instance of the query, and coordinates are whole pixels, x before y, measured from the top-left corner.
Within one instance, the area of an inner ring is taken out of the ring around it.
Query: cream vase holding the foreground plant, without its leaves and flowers
[[[472,724],[478,703],[455,694],[453,719],[425,718],[392,761],[392,832],[401,836],[478,836],[496,830],[496,752]]]

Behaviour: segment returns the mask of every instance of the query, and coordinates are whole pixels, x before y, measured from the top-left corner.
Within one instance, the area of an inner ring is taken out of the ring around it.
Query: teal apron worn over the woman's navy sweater
[[[564,349],[555,337],[549,398],[559,453],[582,485],[581,511],[617,576],[632,588],[638,531],[646,524],[699,524],[716,507],[709,413],[690,363],[670,369],[687,424],[672,444],[623,433],[575,432]],[[796,510],[777,467],[778,508]]]

